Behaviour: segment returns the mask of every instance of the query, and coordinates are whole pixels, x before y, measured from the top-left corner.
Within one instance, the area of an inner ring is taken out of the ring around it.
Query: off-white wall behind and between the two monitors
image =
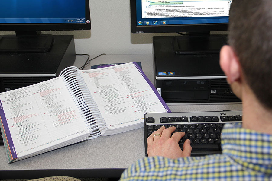
[[[43,32],[73,34],[76,53],[105,54],[150,54],[152,37],[177,35],[176,33],[132,34],[130,30],[129,0],[90,0],[90,31]],[[1,32],[1,34],[14,32]]]

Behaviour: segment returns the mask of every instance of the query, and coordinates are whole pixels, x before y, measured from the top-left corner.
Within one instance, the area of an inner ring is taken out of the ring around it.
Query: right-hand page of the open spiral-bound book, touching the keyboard
[[[144,113],[169,109],[133,62],[82,74],[109,129],[142,123]]]

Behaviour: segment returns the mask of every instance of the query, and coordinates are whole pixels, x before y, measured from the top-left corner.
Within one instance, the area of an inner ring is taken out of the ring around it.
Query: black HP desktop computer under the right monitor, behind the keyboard
[[[241,103],[219,65],[219,53],[176,54],[173,36],[153,37],[155,87],[168,104]]]

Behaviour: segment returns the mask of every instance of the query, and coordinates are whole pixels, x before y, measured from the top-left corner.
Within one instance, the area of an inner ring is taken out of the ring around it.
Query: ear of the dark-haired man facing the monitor
[[[220,66],[227,76],[229,84],[240,82],[241,70],[238,57],[231,46],[225,45],[220,51]]]

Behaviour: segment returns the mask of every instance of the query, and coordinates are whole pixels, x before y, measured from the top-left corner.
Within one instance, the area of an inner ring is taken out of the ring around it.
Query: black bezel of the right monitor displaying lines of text
[[[130,14],[131,33],[210,32],[228,30],[228,23],[137,26],[136,0],[130,0]]]

